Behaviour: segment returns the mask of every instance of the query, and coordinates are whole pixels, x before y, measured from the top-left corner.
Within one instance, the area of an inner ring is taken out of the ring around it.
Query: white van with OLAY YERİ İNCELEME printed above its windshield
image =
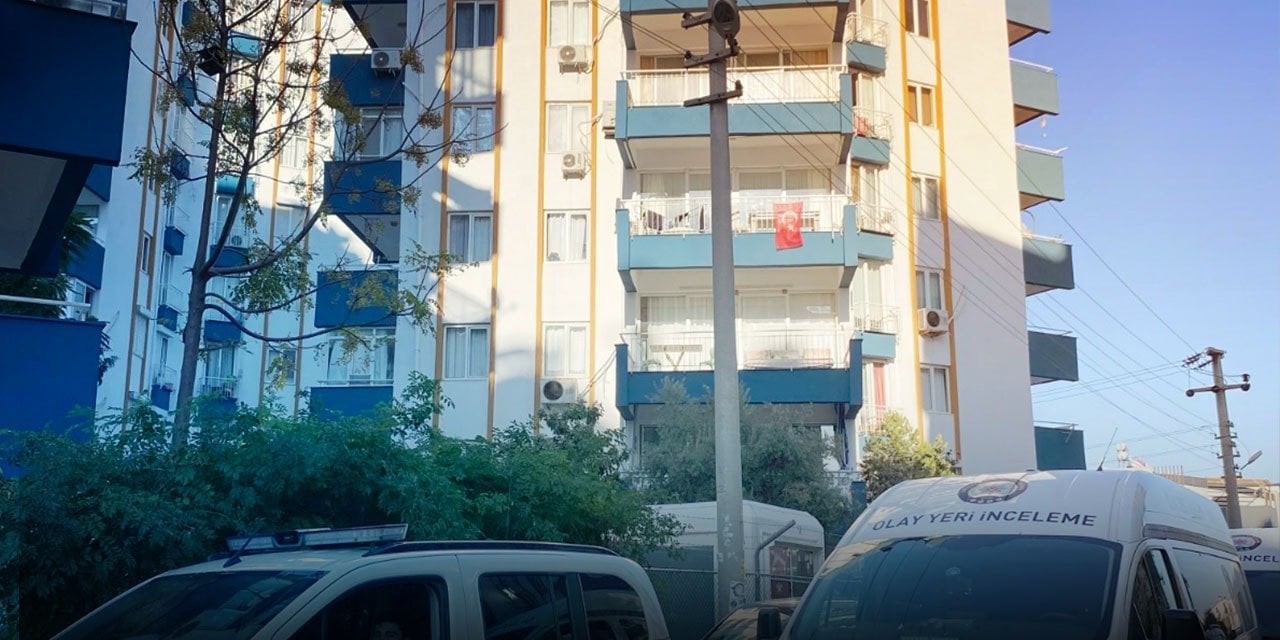
[[[786,640],[1260,639],[1217,506],[1138,471],[913,480],[827,558]]]

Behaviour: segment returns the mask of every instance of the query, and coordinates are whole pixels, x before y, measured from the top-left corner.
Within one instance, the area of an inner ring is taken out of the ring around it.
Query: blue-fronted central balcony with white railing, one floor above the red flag
[[[742,97],[728,105],[730,154],[774,165],[842,164],[856,131],[846,72],[838,65],[731,70],[730,84],[741,81]],[[686,168],[690,155],[705,157],[709,108],[682,102],[707,92],[703,69],[626,72],[617,84],[613,133],[623,165]],[[865,119],[863,131],[888,131],[878,125]],[[881,142],[887,156],[887,138]]]

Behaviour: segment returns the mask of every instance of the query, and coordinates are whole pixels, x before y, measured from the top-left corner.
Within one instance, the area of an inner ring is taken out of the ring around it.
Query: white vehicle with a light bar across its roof
[[[229,553],[152,577],[55,637],[667,637],[649,579],[608,549],[403,541],[406,529],[232,538]]]

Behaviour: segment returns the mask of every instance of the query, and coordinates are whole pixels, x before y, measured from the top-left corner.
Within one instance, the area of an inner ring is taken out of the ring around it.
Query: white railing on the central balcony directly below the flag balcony
[[[632,371],[707,371],[714,366],[714,333],[650,325],[625,334]],[[739,321],[737,362],[742,369],[837,369],[849,366],[849,332],[837,324],[780,329]]]

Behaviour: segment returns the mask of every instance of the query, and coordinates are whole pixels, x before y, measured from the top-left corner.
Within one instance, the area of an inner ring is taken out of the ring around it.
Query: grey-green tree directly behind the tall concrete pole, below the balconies
[[[849,498],[827,479],[833,453],[814,429],[801,428],[809,407],[751,404],[741,393],[742,497],[806,511],[828,536],[852,522]],[[645,485],[654,499],[716,499],[716,433],[712,406],[667,380],[655,398],[657,442],[644,449]]]

